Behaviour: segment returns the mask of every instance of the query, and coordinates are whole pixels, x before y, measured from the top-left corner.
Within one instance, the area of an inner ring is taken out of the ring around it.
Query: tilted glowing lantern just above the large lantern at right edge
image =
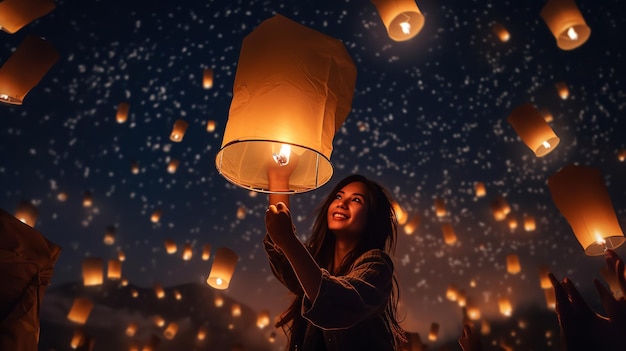
[[[507,118],[507,122],[537,157],[550,153],[561,140],[530,103],[515,108]]]

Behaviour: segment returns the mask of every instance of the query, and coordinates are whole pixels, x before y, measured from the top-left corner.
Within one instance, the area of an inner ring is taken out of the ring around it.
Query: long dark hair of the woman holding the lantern
[[[365,232],[361,235],[361,239],[354,249],[344,257],[339,271],[335,272],[335,274],[346,274],[356,259],[369,250],[379,249],[393,257],[396,249],[398,221],[393,209],[391,195],[377,182],[362,175],[353,174],[339,181],[316,209],[316,217],[311,229],[311,236],[305,243],[309,252],[311,252],[311,255],[320,267],[330,268],[334,257],[335,236],[328,229],[328,208],[339,190],[354,182],[363,183],[367,189],[364,194],[365,203],[368,204],[367,224],[365,226]],[[295,321],[296,317],[300,315],[303,296],[304,291],[299,289],[299,291],[296,292],[296,297],[292,304],[278,319],[276,327],[282,327],[285,331],[293,332],[289,323]],[[385,307],[385,320],[394,336],[393,339],[396,343],[396,348],[401,342],[406,341],[404,330],[398,323],[397,310],[399,298],[400,289],[394,269],[391,295]],[[291,337],[293,337],[293,335],[291,335]]]

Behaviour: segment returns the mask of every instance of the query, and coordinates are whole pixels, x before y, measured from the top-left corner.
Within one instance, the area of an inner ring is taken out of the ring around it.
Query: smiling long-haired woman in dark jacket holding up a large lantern
[[[277,181],[270,180],[270,185]],[[279,201],[280,200],[280,201]],[[305,244],[287,196],[270,196],[264,239],[276,278],[295,298],[277,327],[289,350],[397,350],[398,283],[390,255],[397,221],[389,193],[361,175],[341,180],[318,209]]]

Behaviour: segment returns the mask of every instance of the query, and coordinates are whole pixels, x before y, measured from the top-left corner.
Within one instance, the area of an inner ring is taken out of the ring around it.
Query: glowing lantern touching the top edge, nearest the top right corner
[[[591,35],[574,0],[548,0],[540,14],[562,50],[576,49]]]

